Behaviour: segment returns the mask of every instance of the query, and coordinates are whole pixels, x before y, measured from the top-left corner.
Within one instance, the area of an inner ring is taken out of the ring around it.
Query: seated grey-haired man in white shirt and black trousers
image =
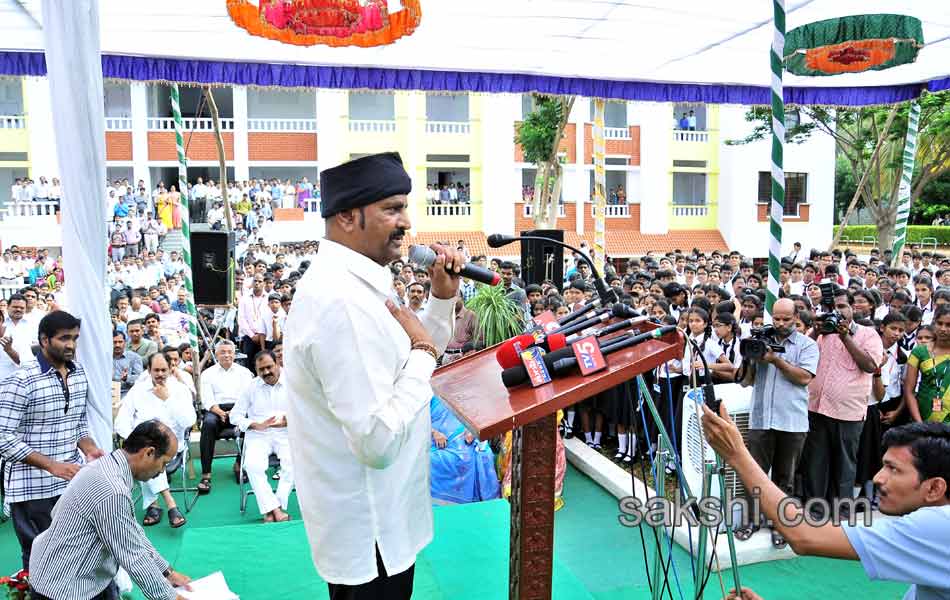
[[[229,426],[228,413],[254,375],[234,363],[234,342],[222,340],[215,346],[214,356],[218,364],[201,372],[201,405],[205,410],[201,420],[201,481],[198,493],[211,493],[211,462],[214,460],[214,445],[218,434]],[[240,462],[234,463],[234,475],[240,473]]]

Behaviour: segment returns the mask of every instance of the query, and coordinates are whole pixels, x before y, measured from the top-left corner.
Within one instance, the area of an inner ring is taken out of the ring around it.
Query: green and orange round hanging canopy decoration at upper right
[[[797,27],[785,36],[785,68],[823,76],[889,69],[914,62],[924,44],[919,19],[855,15]]]

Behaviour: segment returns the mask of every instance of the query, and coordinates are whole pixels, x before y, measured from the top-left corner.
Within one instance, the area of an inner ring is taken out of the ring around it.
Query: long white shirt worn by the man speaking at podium
[[[314,565],[336,584],[375,579],[377,546],[386,572],[401,573],[432,540],[436,363],[410,350],[385,305],[392,294],[388,268],[324,239],[287,316],[297,493]],[[454,332],[455,299],[432,298],[418,316],[442,353]]]

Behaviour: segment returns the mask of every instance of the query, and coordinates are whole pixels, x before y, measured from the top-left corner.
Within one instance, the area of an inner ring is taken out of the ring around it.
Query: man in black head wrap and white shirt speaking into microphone
[[[432,247],[431,299],[417,317],[396,301],[387,267],[412,226],[399,155],[328,169],[320,187],[326,239],[284,328],[300,508],[331,600],[408,600],[432,539],[429,379],[453,334],[463,259]]]

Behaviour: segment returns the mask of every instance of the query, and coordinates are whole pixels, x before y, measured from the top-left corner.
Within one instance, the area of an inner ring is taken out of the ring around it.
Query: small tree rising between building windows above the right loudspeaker
[[[534,95],[534,110],[518,127],[515,143],[521,146],[525,162],[535,165],[532,217],[537,227],[552,229],[557,222],[563,170],[558,147],[574,106],[574,96]]]

